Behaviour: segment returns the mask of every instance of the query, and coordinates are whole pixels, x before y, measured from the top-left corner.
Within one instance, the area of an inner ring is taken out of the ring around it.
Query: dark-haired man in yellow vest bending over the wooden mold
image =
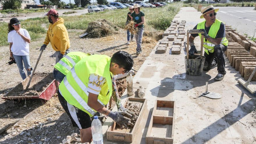
[[[111,58],[99,54],[86,56],[71,68],[59,85],[58,99],[73,126],[80,129],[82,143],[91,142],[90,118],[96,112],[109,116],[124,128],[131,122],[126,116],[132,117],[134,113],[120,104],[113,76],[128,72],[133,63],[131,55],[125,51],[118,51]],[[116,112],[104,107],[111,95],[118,105]]]

